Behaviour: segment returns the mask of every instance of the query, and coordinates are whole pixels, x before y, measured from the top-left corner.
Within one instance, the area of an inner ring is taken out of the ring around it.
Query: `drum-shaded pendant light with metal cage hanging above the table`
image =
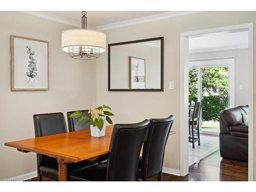
[[[86,12],[83,11],[82,14],[82,29],[71,29],[61,33],[61,49],[75,59],[99,58],[100,53],[106,50],[106,35],[100,31],[84,29]]]

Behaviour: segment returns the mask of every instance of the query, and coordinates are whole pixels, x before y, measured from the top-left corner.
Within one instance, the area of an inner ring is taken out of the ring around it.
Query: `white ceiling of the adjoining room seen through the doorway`
[[[248,31],[223,31],[189,37],[189,53],[248,48]]]

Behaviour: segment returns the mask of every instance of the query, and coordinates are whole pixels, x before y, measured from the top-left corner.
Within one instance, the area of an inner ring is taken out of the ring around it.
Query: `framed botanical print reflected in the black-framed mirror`
[[[129,56],[130,89],[146,89],[145,59]]]

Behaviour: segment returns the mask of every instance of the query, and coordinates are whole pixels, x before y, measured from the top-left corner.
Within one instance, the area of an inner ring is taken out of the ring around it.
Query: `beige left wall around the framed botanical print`
[[[34,137],[33,115],[87,109],[96,101],[95,60],[79,61],[61,51],[61,32],[73,27],[20,12],[0,12],[0,178],[34,172],[36,154],[5,142]],[[49,91],[11,91],[10,35],[49,41]]]

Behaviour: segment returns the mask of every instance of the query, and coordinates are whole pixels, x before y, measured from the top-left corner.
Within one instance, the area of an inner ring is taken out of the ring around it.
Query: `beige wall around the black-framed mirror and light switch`
[[[108,102],[116,116],[114,123],[138,122],[146,118],[176,116],[166,144],[164,166],[180,169],[180,33],[255,22],[255,12],[202,12],[194,15],[107,30],[108,44],[164,37],[164,92],[108,92],[108,56],[97,62],[97,103]],[[168,90],[168,81],[175,89]],[[256,165],[255,165],[256,166]]]

